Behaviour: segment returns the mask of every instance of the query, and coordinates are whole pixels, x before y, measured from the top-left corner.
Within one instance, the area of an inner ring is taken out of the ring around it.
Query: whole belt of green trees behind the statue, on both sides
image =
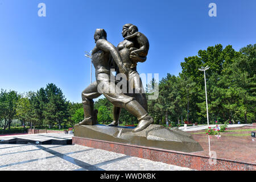
[[[255,121],[256,90],[256,44],[243,47],[239,52],[232,46],[218,44],[200,50],[198,56],[185,57],[179,76],[167,74],[159,82],[154,79],[147,85],[159,87],[159,97],[148,100],[148,112],[155,123],[166,121],[180,123],[181,120],[207,123],[205,104],[204,74],[199,68],[208,65],[206,71],[208,110],[211,122],[218,120]],[[113,121],[113,105],[102,98],[94,103],[98,110],[98,122]],[[37,92],[18,94],[15,91],[0,93],[0,125],[3,129],[11,126],[13,119],[34,126],[75,125],[82,121],[82,104],[69,102],[63,92],[54,84]],[[137,123],[137,119],[122,109],[119,119],[125,123]]]

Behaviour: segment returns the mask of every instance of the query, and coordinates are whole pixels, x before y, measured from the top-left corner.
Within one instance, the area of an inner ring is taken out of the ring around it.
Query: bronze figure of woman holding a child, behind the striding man
[[[143,90],[141,78],[137,72],[137,63],[143,63],[147,59],[147,53],[149,49],[149,43],[147,37],[138,32],[137,26],[131,23],[127,23],[123,26],[122,36],[125,38],[118,44],[117,48],[122,57],[123,64],[126,68],[129,68],[129,80],[127,82],[128,87],[131,88],[133,93],[125,93],[127,96],[134,97],[135,100],[141,104],[147,111],[147,98]],[[114,63],[113,63],[114,64]],[[119,73],[118,67],[114,65]],[[113,122],[109,126],[117,126],[121,108],[114,106],[113,109]]]

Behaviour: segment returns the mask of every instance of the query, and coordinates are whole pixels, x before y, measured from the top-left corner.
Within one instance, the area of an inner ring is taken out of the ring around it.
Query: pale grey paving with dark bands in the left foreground
[[[0,144],[0,159],[0,171],[192,170],[79,145]]]

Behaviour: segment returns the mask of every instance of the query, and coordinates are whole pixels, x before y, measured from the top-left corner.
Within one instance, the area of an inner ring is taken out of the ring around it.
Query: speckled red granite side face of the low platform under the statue
[[[214,170],[254,170],[256,171],[256,163],[240,162],[228,159],[210,159],[209,156],[194,153],[163,150],[160,148],[134,146],[131,144],[123,144],[116,142],[106,142],[104,140],[96,140],[89,138],[73,137],[73,144],[98,148],[102,150],[117,152],[135,156],[138,158],[149,159],[156,162],[163,162],[181,167],[188,167],[196,170],[214,171]],[[214,163],[214,164],[213,164]]]

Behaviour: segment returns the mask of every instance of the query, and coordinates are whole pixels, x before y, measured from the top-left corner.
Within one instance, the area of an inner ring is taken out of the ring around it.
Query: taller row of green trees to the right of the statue
[[[206,71],[208,110],[211,122],[255,121],[256,44],[236,52],[221,44],[200,50],[198,56],[186,57],[179,76],[168,74],[159,83],[159,97],[148,101],[156,123],[167,120],[207,123],[204,73]],[[154,82],[154,81],[153,81]]]

